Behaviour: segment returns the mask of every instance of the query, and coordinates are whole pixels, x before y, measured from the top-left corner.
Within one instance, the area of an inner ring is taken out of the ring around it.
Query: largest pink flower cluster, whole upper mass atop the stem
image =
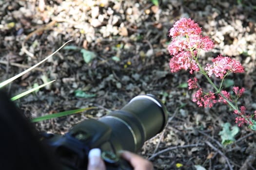
[[[172,42],[168,46],[168,51],[173,57],[169,66],[172,72],[181,69],[190,69],[192,74],[199,71],[196,56],[198,50],[211,50],[214,43],[208,36],[202,36],[201,28],[192,19],[181,18],[169,32]]]

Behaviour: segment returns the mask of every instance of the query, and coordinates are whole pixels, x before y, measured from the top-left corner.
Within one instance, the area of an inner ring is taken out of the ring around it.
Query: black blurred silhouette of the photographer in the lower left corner
[[[0,91],[0,169],[58,170],[56,164],[34,126]]]

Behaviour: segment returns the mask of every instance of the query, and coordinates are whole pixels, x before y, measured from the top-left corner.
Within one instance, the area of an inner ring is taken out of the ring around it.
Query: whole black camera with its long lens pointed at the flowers
[[[62,170],[86,170],[88,153],[101,149],[107,170],[133,170],[118,157],[120,150],[137,152],[144,142],[160,133],[167,123],[167,110],[153,95],[139,95],[118,111],[99,119],[86,119],[65,135],[44,134]]]

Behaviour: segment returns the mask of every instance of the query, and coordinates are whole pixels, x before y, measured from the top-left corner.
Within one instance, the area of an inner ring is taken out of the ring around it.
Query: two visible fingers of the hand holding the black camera
[[[92,149],[89,152],[89,163],[87,170],[106,170],[106,166],[101,159],[100,154],[101,152],[98,148]],[[134,170],[153,170],[153,165],[151,162],[135,153],[121,151],[120,156],[127,160],[132,165]]]

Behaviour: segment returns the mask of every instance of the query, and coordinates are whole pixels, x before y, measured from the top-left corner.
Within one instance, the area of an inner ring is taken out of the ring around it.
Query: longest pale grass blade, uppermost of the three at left
[[[40,61],[39,63],[37,63],[36,65],[32,66],[31,68],[28,68],[26,70],[24,70],[23,72],[21,72],[20,74],[17,74],[16,76],[11,77],[8,80],[5,80],[4,82],[0,83],[0,88],[3,87],[4,85],[7,85],[9,83],[11,83],[12,81],[14,81],[15,79],[19,78],[20,76],[26,74],[27,72],[31,71],[32,69],[38,67],[40,64],[42,64],[43,62],[45,62],[46,60],[48,60],[50,57],[52,57],[54,54],[56,54],[60,49],[62,49],[67,43],[69,43],[72,40],[69,40],[67,42],[65,42],[61,47],[59,47],[58,50],[54,51],[51,55],[48,55],[45,59],[43,59],[42,61]]]

